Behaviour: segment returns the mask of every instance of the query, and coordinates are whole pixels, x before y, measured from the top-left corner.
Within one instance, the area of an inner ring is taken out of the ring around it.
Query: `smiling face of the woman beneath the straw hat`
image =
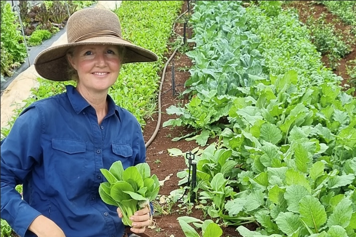
[[[107,90],[119,76],[121,60],[114,45],[80,45],[69,56],[78,72],[78,86],[88,91]]]

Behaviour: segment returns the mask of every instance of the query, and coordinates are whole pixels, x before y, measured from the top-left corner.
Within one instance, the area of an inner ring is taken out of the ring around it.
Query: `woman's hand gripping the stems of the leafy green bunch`
[[[118,208],[117,211],[119,217],[122,218],[120,208]],[[148,207],[136,211],[133,215],[130,216],[130,219],[133,221],[133,227],[131,227],[130,230],[134,233],[143,233],[146,230],[146,226],[152,224],[150,218],[150,210],[148,209]]]

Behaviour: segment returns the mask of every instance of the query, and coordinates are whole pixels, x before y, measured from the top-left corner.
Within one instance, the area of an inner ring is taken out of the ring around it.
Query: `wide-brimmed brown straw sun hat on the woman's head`
[[[121,63],[156,61],[152,51],[123,39],[118,16],[104,8],[85,8],[74,12],[67,22],[68,43],[50,47],[35,59],[36,71],[44,78],[56,81],[71,80],[68,74],[67,50],[85,44],[109,44],[124,46]]]

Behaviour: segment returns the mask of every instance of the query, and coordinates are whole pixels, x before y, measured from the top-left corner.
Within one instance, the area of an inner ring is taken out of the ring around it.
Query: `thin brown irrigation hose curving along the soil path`
[[[175,20],[174,20],[174,24],[173,24],[173,32],[174,32],[174,27],[176,25],[176,22],[177,20],[182,17],[182,15],[184,15],[185,13],[187,13],[188,10],[184,11],[182,14],[180,14]],[[174,32],[175,33],[175,32]],[[177,34],[177,33],[175,33]],[[180,35],[179,35],[180,36]],[[182,39],[183,41],[183,39]],[[162,86],[163,86],[163,82],[164,82],[164,77],[165,77],[165,74],[166,74],[166,69],[167,69],[167,66],[169,64],[169,62],[173,59],[174,55],[176,54],[176,52],[178,51],[178,48],[180,48],[181,46],[183,45],[183,43],[181,43],[172,53],[172,55],[169,57],[169,59],[167,60],[166,64],[164,65],[164,68],[163,68],[163,72],[162,72],[162,77],[161,77],[161,83],[160,83],[160,86],[159,86],[159,91],[158,91],[158,119],[157,119],[157,125],[156,125],[156,129],[155,131],[153,132],[152,136],[150,137],[150,139],[146,142],[145,144],[145,147],[147,148],[151,143],[152,141],[156,138],[157,136],[157,133],[159,131],[159,128],[161,126],[161,119],[162,119],[162,108],[161,108],[161,95],[162,95]]]

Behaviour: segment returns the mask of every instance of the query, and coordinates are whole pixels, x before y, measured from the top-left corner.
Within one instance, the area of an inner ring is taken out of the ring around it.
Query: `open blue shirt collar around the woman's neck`
[[[85,109],[86,107],[90,106],[88,101],[83,98],[83,96],[78,92],[78,90],[76,90],[73,85],[66,85],[66,89],[69,101],[71,102],[72,107],[77,114],[82,112],[83,109]],[[120,119],[118,106],[116,106],[114,100],[109,94],[107,95],[106,100],[108,101],[107,117],[116,114],[116,116],[118,116],[118,118]]]

